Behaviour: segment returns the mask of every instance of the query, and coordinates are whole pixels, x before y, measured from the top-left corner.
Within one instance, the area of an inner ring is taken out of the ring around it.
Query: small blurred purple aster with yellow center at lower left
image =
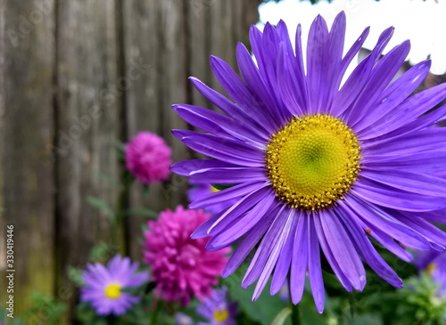
[[[136,272],[139,264],[129,257],[111,258],[107,267],[88,264],[84,272],[85,287],[80,289],[80,300],[89,302],[98,315],[122,315],[139,302],[123,288],[136,288],[149,280],[148,272]]]

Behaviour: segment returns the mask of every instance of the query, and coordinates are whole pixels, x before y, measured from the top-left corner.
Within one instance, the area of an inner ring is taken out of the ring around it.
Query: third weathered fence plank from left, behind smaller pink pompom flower
[[[158,36],[158,1],[123,1],[123,64],[133,71],[126,95],[126,117],[128,139],[139,131],[162,134],[162,108],[160,94],[160,44]],[[141,184],[132,185],[129,204],[132,207],[150,207],[159,211],[166,207],[161,189],[163,185],[153,185],[150,195],[145,198]],[[131,256],[140,256],[141,247],[136,240],[142,236],[141,224],[144,217],[128,216],[128,231],[131,240],[128,245]]]

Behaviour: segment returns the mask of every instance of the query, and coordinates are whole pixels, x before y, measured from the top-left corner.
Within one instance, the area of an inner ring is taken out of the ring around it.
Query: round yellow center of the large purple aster
[[[339,118],[293,118],[268,143],[268,177],[290,207],[330,207],[357,180],[360,150],[358,137]]]

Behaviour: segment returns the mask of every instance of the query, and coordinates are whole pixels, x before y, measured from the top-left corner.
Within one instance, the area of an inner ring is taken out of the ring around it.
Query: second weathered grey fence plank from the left
[[[120,137],[120,98],[114,1],[64,1],[57,10],[57,248],[58,288],[70,305],[76,295],[67,266],[83,267],[89,249],[110,241],[108,218],[87,204],[103,199],[111,207],[119,178],[115,144]],[[103,256],[107,258],[109,256]],[[70,288],[70,290],[67,290]]]

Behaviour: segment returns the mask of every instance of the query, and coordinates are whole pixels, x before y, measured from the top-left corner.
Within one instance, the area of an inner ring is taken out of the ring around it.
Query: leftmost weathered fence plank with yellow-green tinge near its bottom
[[[14,314],[32,290],[54,292],[53,4],[2,1],[0,134],[5,224],[14,226]],[[1,214],[0,214],[1,215]],[[5,240],[4,229],[1,240]],[[7,268],[7,267],[6,267]],[[4,274],[2,272],[2,274]],[[4,280],[1,300],[6,302]]]

